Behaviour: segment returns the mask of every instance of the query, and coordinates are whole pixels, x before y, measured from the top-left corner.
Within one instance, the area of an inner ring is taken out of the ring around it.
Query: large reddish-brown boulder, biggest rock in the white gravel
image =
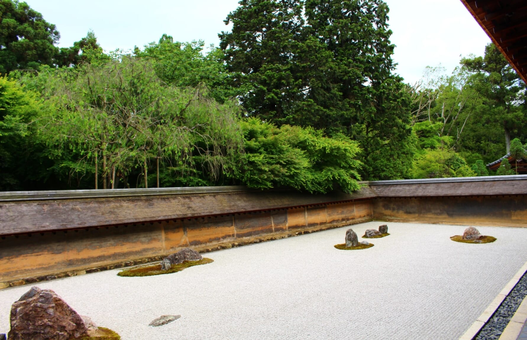
[[[87,335],[81,316],[50,289],[34,286],[11,307],[9,340],[71,340]]]

